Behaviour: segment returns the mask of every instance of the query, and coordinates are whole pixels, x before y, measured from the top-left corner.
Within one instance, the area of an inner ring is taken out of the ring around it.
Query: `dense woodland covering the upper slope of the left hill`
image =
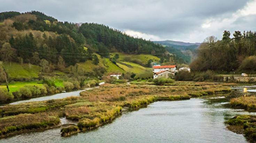
[[[42,12],[0,13],[0,48],[2,61],[39,64],[44,59],[54,65],[65,62],[75,65],[97,56],[108,57],[110,52],[151,54],[168,62],[170,54],[160,44],[133,38],[105,25],[82,25],[60,22]]]

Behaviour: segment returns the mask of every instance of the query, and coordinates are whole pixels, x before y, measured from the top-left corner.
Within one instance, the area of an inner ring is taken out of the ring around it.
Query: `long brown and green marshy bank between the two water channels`
[[[120,112],[123,107],[139,109],[141,106],[157,101],[156,97],[180,100],[188,99],[188,93],[230,91],[220,83],[203,82],[201,86],[192,86],[192,83],[186,86],[184,83],[183,86],[107,84],[98,89],[81,92],[79,97],[6,105],[0,107],[1,137],[7,137],[12,132],[22,133],[21,127],[24,125],[32,126],[31,129],[47,129],[48,126],[41,124],[52,117],[66,117],[77,121],[79,130],[85,131],[113,120],[117,111]]]

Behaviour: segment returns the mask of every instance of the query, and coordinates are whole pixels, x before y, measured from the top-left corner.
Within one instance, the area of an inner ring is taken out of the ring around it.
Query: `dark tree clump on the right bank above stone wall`
[[[191,63],[194,71],[256,71],[256,32],[225,30],[221,40],[210,36],[197,50],[197,58]]]

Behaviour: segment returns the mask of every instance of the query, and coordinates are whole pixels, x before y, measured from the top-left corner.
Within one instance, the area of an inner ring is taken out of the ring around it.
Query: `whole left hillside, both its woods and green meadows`
[[[143,73],[175,59],[160,44],[102,24],[61,22],[39,11],[1,12],[0,30],[0,61],[9,80]]]

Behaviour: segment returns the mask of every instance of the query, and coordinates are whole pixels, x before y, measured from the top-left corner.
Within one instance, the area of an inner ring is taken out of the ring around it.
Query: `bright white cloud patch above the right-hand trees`
[[[256,0],[247,2],[244,7],[225,17],[210,17],[205,19],[201,25],[203,29],[192,33],[192,37],[200,34],[208,34],[208,36],[215,35],[220,39],[224,30],[230,30],[232,33],[235,30],[254,30],[255,21]]]

